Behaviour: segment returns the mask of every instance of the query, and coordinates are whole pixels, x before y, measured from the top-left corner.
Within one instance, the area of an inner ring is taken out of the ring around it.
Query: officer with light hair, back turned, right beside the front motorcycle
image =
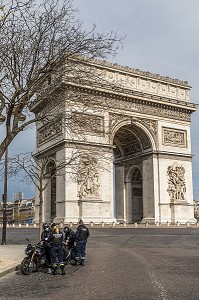
[[[55,223],[51,225],[52,231],[47,238],[47,242],[51,244],[51,257],[53,275],[56,275],[58,265],[60,266],[62,275],[65,275],[64,269],[64,252],[63,252],[63,233],[59,230]],[[59,264],[57,263],[57,260]]]

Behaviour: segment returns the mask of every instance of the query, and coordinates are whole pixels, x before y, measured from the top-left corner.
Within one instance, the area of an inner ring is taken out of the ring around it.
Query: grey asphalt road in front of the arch
[[[9,228],[7,243],[26,236],[38,241],[38,230]],[[84,267],[8,274],[0,299],[199,300],[198,255],[198,228],[92,228]]]

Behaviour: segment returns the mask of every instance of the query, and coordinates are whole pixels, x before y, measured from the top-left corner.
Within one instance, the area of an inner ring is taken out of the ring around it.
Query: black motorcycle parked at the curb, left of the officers
[[[20,269],[22,274],[30,275],[40,268],[47,268],[47,260],[42,241],[37,244],[31,244],[29,239],[26,240],[28,241],[28,245],[25,249],[25,254],[27,256],[22,260]]]

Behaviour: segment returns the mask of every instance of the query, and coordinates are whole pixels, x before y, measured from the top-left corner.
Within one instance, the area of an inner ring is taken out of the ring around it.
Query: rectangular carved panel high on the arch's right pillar
[[[163,128],[163,145],[187,146],[187,132],[172,128]]]

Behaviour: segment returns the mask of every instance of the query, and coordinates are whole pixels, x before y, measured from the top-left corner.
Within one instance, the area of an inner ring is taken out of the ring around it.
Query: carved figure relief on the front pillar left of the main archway
[[[77,184],[77,196],[79,199],[99,197],[100,184],[96,159],[87,156],[81,158],[77,175]]]

